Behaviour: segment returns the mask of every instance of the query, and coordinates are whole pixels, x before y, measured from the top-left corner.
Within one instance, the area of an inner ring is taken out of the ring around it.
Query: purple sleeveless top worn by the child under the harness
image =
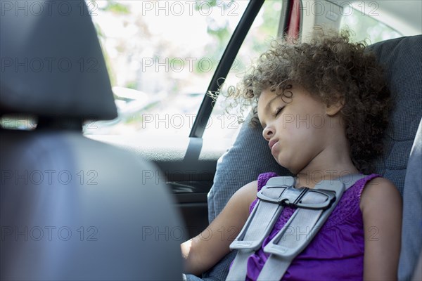
[[[258,190],[261,190],[275,173],[260,174]],[[371,174],[357,181],[343,193],[333,213],[316,234],[314,240],[302,251],[281,280],[362,280],[364,276],[364,223],[359,207],[360,196],[365,184],[378,175]],[[250,211],[257,200],[250,205]],[[294,208],[283,209],[269,237],[261,249],[248,258],[246,280],[257,280],[268,254],[265,245],[283,228]],[[293,230],[294,231],[294,230]],[[300,232],[298,232],[298,235]]]

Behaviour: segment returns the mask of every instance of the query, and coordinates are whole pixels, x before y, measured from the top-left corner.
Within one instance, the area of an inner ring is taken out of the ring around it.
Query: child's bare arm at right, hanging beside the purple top
[[[362,192],[364,280],[397,280],[402,234],[402,197],[385,178],[374,178]]]

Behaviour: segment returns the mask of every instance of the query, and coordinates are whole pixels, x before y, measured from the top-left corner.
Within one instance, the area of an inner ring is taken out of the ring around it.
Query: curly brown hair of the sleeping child
[[[292,83],[300,84],[326,105],[343,101],[340,112],[352,162],[364,174],[373,172],[371,162],[383,152],[390,92],[366,43],[351,43],[349,30],[334,34],[318,28],[307,42],[273,41],[229,96],[241,107],[253,105],[251,123],[256,126],[260,93],[270,89],[285,95],[286,86]]]

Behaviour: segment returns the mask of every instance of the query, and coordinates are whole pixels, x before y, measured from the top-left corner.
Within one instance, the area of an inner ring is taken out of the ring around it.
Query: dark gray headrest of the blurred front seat
[[[117,117],[85,1],[0,4],[1,114]]]

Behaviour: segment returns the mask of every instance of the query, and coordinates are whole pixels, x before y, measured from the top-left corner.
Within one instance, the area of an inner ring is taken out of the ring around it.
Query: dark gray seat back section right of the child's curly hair
[[[395,183],[403,195],[407,161],[422,117],[422,35],[383,41],[372,49],[394,98],[385,152],[375,161],[376,173]]]

